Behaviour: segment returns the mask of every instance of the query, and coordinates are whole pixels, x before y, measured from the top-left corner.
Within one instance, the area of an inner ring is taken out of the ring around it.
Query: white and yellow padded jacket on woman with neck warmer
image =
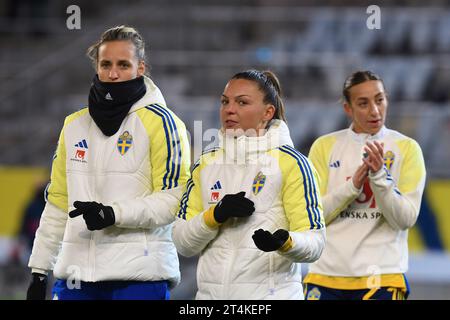
[[[146,94],[113,136],[100,131],[87,108],[66,118],[29,261],[33,272],[89,282],[179,282],[171,232],[190,150],[183,122],[151,79],[145,83]],[[89,231],[82,216],[68,218],[77,200],[111,206],[115,225]]]

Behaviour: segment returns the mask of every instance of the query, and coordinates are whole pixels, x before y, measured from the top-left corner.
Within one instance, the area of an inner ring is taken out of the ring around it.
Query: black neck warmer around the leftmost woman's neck
[[[89,114],[104,135],[112,136],[146,90],[143,76],[123,82],[102,82],[95,75],[89,91]]]

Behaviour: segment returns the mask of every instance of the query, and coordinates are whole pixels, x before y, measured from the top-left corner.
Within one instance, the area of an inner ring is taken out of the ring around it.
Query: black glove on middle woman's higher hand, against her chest
[[[245,197],[245,192],[227,194],[214,208],[214,219],[224,223],[230,217],[249,217],[255,211],[255,204]]]

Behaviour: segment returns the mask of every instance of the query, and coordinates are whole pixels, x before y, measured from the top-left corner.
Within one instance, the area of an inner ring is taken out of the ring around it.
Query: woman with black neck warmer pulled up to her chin
[[[189,147],[183,122],[144,75],[144,42],[106,30],[89,50],[89,107],[69,115],[29,261],[27,299],[168,299],[180,280],[171,239]]]

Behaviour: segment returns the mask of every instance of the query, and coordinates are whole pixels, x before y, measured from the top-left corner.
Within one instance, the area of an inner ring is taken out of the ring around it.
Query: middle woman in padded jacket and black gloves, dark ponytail
[[[173,229],[181,255],[200,254],[196,299],[303,299],[300,263],[320,257],[325,226],[276,76],[234,75],[220,116],[220,145],[194,165]]]

